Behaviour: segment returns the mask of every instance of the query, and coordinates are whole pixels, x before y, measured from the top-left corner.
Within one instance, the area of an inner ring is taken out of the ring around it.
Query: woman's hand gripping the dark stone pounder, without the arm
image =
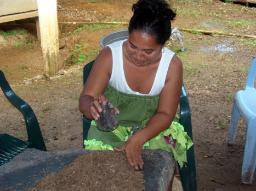
[[[92,115],[94,120],[98,120],[100,117],[99,112],[102,111],[100,103],[102,103],[103,105],[107,104],[107,99],[103,94],[100,94],[100,96],[93,98],[93,101],[90,103],[89,112],[90,112],[90,115]],[[114,107],[116,110],[116,114],[119,114],[120,111],[116,108],[116,106]]]

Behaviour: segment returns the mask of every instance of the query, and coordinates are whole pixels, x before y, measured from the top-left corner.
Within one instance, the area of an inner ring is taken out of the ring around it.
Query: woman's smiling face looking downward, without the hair
[[[164,45],[156,43],[153,35],[133,31],[129,34],[126,48],[129,57],[138,67],[143,67],[155,62],[162,56]]]

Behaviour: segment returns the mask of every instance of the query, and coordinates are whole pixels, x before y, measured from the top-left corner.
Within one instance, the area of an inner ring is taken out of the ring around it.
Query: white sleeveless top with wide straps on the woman
[[[115,43],[107,45],[112,51],[113,58],[112,74],[109,84],[118,91],[127,94],[136,94],[140,96],[156,96],[160,94],[166,81],[166,75],[169,68],[170,60],[175,53],[164,47],[164,52],[162,53],[160,64],[158,66],[156,77],[153,82],[153,86],[151,87],[151,91],[149,92],[149,94],[134,92],[128,86],[123,70],[123,42],[126,40],[116,41]]]

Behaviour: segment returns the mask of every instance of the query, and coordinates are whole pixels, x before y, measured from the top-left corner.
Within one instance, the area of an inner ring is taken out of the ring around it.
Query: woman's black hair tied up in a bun
[[[139,0],[132,7],[129,33],[142,31],[154,35],[158,44],[164,44],[171,34],[170,21],[176,14],[164,0]]]

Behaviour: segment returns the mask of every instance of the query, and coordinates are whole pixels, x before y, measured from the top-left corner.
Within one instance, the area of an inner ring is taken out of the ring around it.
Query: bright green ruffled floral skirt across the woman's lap
[[[145,127],[148,120],[143,121],[140,128]],[[172,152],[174,160],[178,162],[180,168],[186,163],[186,150],[188,150],[193,142],[189,138],[186,132],[184,132],[183,126],[178,122],[178,118],[172,122],[170,127],[155,138],[147,141],[143,149],[161,149],[164,151]],[[138,130],[140,130],[138,128]],[[91,127],[88,133],[88,140],[84,140],[84,145],[88,150],[112,150],[113,147],[121,147],[128,140],[134,128],[119,126],[117,129],[111,132],[103,132],[98,129],[95,120],[92,121]]]

